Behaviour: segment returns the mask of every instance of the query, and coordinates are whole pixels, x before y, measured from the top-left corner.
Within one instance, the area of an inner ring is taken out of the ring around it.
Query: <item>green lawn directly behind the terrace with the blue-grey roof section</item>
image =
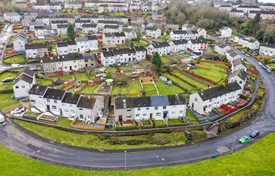
[[[155,84],[158,88],[158,93],[162,93],[162,95],[174,95],[176,93],[184,93],[184,90],[176,85],[167,86],[162,81],[155,81]]]

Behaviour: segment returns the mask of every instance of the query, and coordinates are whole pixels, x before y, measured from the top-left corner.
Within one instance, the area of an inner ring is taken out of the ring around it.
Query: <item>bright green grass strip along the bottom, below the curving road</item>
[[[0,172],[5,175],[275,175],[275,134],[268,134],[263,139],[247,148],[211,160],[198,163],[136,169],[130,171],[86,171],[68,167],[54,166],[21,156],[0,146]],[[265,150],[262,150],[262,149]],[[20,169],[14,169],[18,167]],[[249,166],[248,166],[249,163]],[[261,163],[259,165],[259,163]],[[192,168],[192,169],[190,169]],[[246,168],[246,169],[243,169]],[[195,172],[194,172],[195,171]],[[211,171],[211,173],[209,173]]]

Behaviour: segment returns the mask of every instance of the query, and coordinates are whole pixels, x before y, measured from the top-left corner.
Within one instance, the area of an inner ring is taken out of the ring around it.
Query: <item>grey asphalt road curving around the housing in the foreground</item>
[[[219,41],[217,38],[214,39]],[[11,149],[11,141],[15,152],[24,156],[45,163],[87,170],[124,170],[125,156],[128,170],[194,163],[209,159],[213,154],[229,154],[234,136],[236,140],[233,152],[251,145],[275,130],[275,118],[272,113],[275,103],[275,77],[273,73],[267,74],[256,59],[245,55],[242,57],[256,65],[260,71],[266,87],[266,97],[262,111],[257,117],[225,135],[182,146],[130,149],[126,150],[125,154],[124,150],[95,150],[50,141],[30,133],[6,118],[7,124],[0,127],[0,144]],[[249,135],[256,129],[260,131],[260,136],[244,145],[237,142],[239,138]]]

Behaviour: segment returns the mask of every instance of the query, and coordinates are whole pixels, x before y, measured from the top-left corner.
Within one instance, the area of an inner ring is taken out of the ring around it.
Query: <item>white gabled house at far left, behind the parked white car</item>
[[[34,84],[36,84],[34,71],[25,67],[17,74],[12,85],[15,98],[28,97],[28,91]]]

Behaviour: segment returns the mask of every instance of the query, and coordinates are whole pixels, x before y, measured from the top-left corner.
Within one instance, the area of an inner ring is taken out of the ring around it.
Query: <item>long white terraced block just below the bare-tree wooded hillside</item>
[[[199,38],[199,33],[196,30],[175,30],[170,32],[170,38],[172,40],[194,40]]]

